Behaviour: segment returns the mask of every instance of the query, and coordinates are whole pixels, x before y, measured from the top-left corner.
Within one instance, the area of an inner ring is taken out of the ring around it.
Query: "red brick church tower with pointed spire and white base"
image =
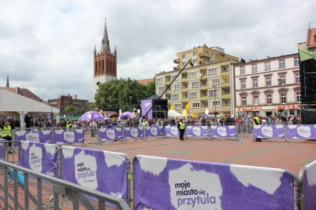
[[[97,53],[94,46],[93,51],[93,100],[99,85],[110,80],[117,79],[117,48],[111,53],[108,37],[107,24],[105,22],[101,43],[101,51]]]

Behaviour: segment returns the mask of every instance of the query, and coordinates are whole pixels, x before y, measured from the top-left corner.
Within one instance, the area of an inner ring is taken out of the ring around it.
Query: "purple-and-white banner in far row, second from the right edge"
[[[285,138],[285,125],[253,125],[253,138],[282,139]]]

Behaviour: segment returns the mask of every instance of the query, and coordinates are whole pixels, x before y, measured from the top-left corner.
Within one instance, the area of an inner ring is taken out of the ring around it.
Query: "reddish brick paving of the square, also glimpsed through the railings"
[[[76,147],[79,147],[79,145]],[[293,172],[297,177],[302,167],[316,160],[316,140],[302,141],[299,139],[290,139],[288,143],[285,143],[283,139],[265,139],[263,142],[251,142],[250,140],[232,141],[231,139],[208,141],[207,139],[193,137],[185,141],[179,141],[178,138],[149,138],[145,141],[137,139],[125,142],[102,142],[101,145],[86,143],[86,146],[82,148],[126,153],[131,161],[135,155],[139,154],[280,168]],[[36,194],[37,189],[32,186],[30,184],[30,191]],[[50,190],[47,188],[45,195],[43,195],[45,209],[52,209],[52,202],[48,201],[52,192]],[[23,196],[19,194],[20,197]],[[61,197],[59,201],[59,209],[73,209],[71,199]],[[31,207],[30,209],[37,208]]]

